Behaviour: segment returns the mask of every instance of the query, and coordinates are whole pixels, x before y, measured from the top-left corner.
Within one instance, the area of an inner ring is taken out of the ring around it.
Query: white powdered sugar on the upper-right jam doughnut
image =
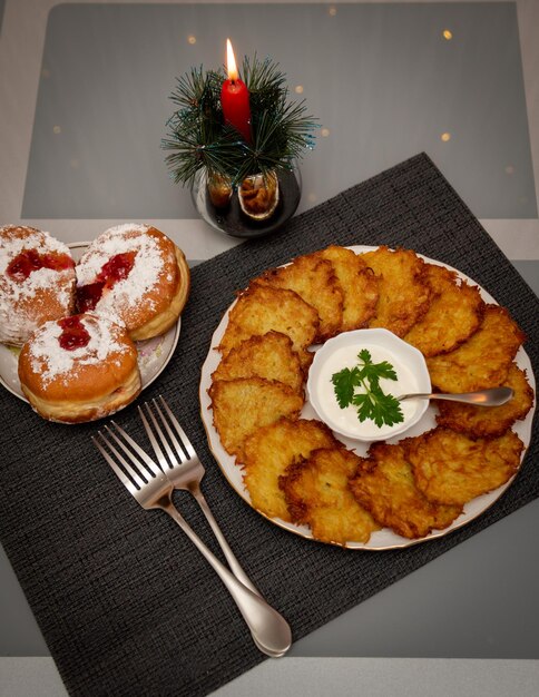
[[[76,268],[77,285],[95,282],[102,266],[117,254],[136,252],[134,266],[127,276],[104,293],[96,312],[121,323],[121,311],[136,307],[158,282],[164,259],[156,239],[146,232],[147,225],[125,224],[102,233],[88,248]]]

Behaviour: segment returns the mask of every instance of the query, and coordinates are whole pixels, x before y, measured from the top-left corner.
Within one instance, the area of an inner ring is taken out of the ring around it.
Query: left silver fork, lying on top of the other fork
[[[204,544],[174,507],[171,501],[174,487],[167,475],[124,429],[114,421],[111,423],[116,432],[105,426],[109,438],[99,431],[98,436],[91,436],[91,440],[118,479],[144,509],[165,511],[187,534],[227,588],[258,649],[272,658],[284,656],[292,644],[291,629],[286,620],[261,596],[238,581]]]

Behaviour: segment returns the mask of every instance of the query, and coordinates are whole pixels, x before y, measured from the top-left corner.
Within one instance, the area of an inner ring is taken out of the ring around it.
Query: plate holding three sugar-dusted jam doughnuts
[[[0,382],[42,418],[127,406],[166,367],[189,294],[183,252],[149,225],[89,243],[0,228]]]

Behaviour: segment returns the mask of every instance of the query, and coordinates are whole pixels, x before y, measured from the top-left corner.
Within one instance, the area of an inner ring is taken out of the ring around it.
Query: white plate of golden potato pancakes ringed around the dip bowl
[[[508,385],[513,397],[431,402],[393,438],[343,436],[314,410],[307,379],[321,346],[365,328],[419,351],[433,391]],[[484,288],[414,251],[332,245],[295,257],[253,278],[215,330],[199,386],[210,450],[247,504],[303,538],[353,550],[437,539],[518,474],[535,412],[525,341]]]

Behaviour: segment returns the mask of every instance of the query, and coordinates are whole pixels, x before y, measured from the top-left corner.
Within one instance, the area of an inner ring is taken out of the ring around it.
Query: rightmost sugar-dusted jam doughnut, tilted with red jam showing
[[[148,225],[106,230],[85,252],[76,273],[78,311],[111,317],[135,341],[169,330],[189,292],[184,254]]]

